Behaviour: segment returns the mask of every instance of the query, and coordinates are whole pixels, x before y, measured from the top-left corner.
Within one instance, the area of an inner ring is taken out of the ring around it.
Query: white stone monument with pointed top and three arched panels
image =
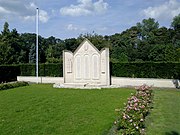
[[[74,53],[63,51],[65,86],[109,86],[109,48],[99,51],[85,39]]]

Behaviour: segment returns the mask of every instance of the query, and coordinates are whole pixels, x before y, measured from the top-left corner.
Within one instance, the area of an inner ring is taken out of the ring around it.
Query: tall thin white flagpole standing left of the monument
[[[38,21],[39,21],[39,9],[36,8],[36,79],[38,81]]]

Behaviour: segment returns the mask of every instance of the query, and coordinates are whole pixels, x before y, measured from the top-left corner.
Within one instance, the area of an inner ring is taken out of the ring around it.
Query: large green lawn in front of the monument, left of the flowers
[[[0,91],[0,135],[106,134],[131,92],[42,84]]]

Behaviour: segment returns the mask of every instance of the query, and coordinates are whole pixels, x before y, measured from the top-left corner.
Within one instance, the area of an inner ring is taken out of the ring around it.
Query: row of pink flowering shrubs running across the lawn
[[[125,104],[120,117],[114,122],[118,133],[122,135],[145,134],[145,117],[151,109],[152,90],[147,85],[136,87],[135,94],[131,94]]]

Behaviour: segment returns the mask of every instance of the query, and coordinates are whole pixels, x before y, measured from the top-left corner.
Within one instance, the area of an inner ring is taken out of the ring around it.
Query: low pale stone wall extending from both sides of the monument
[[[63,83],[63,77],[39,77],[39,83]],[[27,82],[37,82],[36,77],[32,76],[18,76],[18,81]],[[147,84],[153,87],[161,88],[176,88],[174,81],[172,79],[154,79],[154,78],[125,78],[125,77],[111,77],[111,85],[116,85],[118,87],[129,87],[129,86],[140,86],[142,84]],[[179,84],[179,81],[178,81]]]

